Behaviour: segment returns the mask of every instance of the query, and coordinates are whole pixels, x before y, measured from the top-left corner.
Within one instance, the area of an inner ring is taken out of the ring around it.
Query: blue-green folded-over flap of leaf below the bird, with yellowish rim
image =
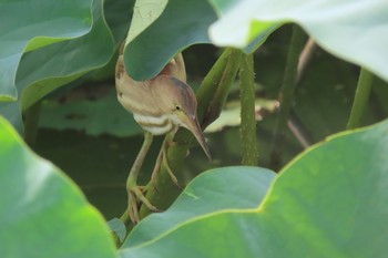
[[[274,177],[275,174],[268,169],[247,166],[203,173],[186,186],[165,213],[153,214],[142,220],[123,247],[153,241],[176,227],[221,210],[255,208]]]

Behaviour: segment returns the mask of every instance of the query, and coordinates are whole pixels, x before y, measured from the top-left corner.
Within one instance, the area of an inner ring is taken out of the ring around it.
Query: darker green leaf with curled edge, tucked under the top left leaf
[[[1,114],[8,118],[18,117],[20,110],[25,110],[51,91],[109,62],[114,42],[103,17],[102,3],[102,0],[93,1],[93,27],[90,33],[23,55],[17,78],[18,92],[22,92],[22,96],[17,103],[0,103]],[[12,122],[19,131],[22,128],[20,120]]]

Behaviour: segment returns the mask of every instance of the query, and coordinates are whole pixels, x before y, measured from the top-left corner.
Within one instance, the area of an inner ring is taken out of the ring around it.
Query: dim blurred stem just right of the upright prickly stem
[[[292,40],[288,49],[286,68],[284,72],[280,90],[280,107],[274,130],[274,142],[270,151],[270,167],[278,169],[282,165],[282,149],[287,130],[287,122],[294,103],[294,92],[296,89],[297,66],[299,54],[304,48],[306,37],[298,27],[293,27]]]

